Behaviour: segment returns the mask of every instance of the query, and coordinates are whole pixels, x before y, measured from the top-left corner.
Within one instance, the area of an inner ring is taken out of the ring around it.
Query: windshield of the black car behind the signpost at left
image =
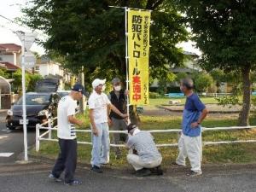
[[[26,105],[47,105],[50,95],[26,95]],[[16,102],[17,105],[22,105],[22,97]]]

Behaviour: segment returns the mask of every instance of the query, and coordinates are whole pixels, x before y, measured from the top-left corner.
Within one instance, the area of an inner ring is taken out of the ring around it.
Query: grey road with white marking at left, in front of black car
[[[28,145],[32,145],[35,142],[36,132],[35,130],[29,130],[27,132]],[[23,131],[18,129],[15,131],[9,131],[4,123],[3,115],[0,117],[0,164],[13,163],[18,160],[18,155],[23,152]],[[3,157],[5,155],[9,157]],[[12,154],[13,153],[13,154]]]

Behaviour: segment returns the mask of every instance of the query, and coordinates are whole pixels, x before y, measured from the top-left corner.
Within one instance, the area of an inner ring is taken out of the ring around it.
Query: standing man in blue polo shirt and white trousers
[[[194,93],[192,79],[181,81],[181,90],[187,97],[184,111],[182,134],[178,141],[179,154],[174,164],[186,166],[186,158],[189,158],[191,172],[189,176],[201,175],[201,122],[207,117],[208,110]]]

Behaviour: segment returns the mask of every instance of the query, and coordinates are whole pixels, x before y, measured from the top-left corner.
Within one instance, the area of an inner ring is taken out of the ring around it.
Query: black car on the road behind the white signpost
[[[56,93],[27,93],[26,94],[26,119],[27,127],[35,127],[44,123],[49,116],[55,117],[60,96]],[[14,103],[7,112],[6,126],[15,130],[22,120],[22,97]]]

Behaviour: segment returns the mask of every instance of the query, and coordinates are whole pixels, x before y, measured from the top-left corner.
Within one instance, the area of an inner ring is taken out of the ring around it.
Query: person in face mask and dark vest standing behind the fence
[[[113,90],[109,93],[109,100],[114,105],[114,107],[118,108],[121,113],[127,113],[126,109],[126,96],[127,91],[122,89],[121,80],[119,78],[115,78],[112,80]],[[118,113],[113,112],[111,110],[109,114],[109,122],[111,125],[111,129],[113,131],[125,131],[126,130],[126,120],[119,116]],[[126,142],[126,135],[115,133],[113,134],[113,143],[119,144],[120,141]],[[120,148],[114,148],[115,158],[118,160],[121,156]]]

